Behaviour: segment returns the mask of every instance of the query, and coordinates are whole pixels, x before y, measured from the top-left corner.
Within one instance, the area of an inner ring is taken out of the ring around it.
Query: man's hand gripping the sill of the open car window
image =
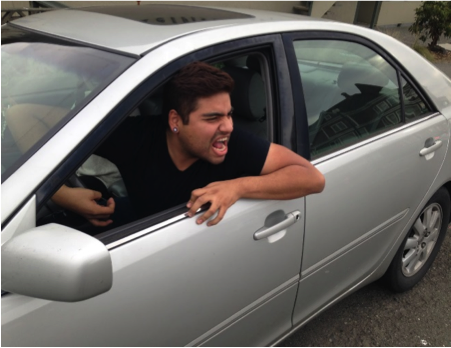
[[[218,212],[218,215],[207,224],[207,226],[214,226],[223,219],[227,209],[241,198],[238,192],[236,180],[213,182],[204,188],[194,190],[186,205],[189,208],[187,215],[193,217],[200,207],[210,203],[210,208],[196,220],[196,223],[200,225]]]

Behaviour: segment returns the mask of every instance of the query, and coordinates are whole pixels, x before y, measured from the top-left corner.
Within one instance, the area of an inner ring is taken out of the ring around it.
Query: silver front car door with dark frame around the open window
[[[171,63],[125,98],[102,126],[71,152],[10,219],[2,234],[12,236],[18,229],[31,228],[36,205],[50,197],[61,178],[77,168],[80,159],[89,155],[137,101],[180,67],[194,59],[214,60],[237,49],[258,53],[262,46],[270,57],[276,57],[266,62],[266,77],[272,82],[267,85],[289,89],[278,36],[210,47]],[[174,48],[159,48],[141,63],[151,64],[169,52]],[[269,133],[274,133],[279,143],[292,146],[291,96],[276,91],[270,91],[268,97],[268,106],[274,110],[268,124],[271,128],[277,125]],[[76,118],[89,118],[90,110]],[[281,118],[282,113],[288,120]],[[24,178],[10,179],[19,182]],[[211,228],[198,226],[184,211],[174,207],[97,236],[108,248],[113,265],[113,287],[105,294],[76,303],[2,295],[2,345],[263,345],[288,331],[302,258],[304,199],[241,200]]]

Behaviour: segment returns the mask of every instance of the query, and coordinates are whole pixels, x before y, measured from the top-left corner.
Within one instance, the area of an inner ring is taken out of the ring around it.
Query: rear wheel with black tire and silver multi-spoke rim
[[[417,217],[384,276],[393,291],[410,290],[427,273],[445,239],[450,206],[450,195],[441,188]]]

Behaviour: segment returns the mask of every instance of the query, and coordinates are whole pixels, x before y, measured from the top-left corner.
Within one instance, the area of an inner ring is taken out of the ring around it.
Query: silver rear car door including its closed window
[[[370,279],[400,242],[444,163],[449,127],[374,44],[327,33],[285,39],[295,99],[305,100],[300,131],[327,183],[306,199],[293,317],[301,324]]]

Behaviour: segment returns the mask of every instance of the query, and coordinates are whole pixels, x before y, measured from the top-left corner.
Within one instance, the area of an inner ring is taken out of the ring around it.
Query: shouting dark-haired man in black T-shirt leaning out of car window
[[[323,190],[323,175],[307,160],[234,130],[233,87],[227,73],[191,63],[166,88],[167,117],[130,118],[96,152],[118,166],[138,218],[184,202],[192,217],[210,203],[196,223],[213,217],[213,226],[240,198],[287,200]],[[53,200],[107,226],[115,202],[100,206],[99,198],[98,192],[63,186]]]

